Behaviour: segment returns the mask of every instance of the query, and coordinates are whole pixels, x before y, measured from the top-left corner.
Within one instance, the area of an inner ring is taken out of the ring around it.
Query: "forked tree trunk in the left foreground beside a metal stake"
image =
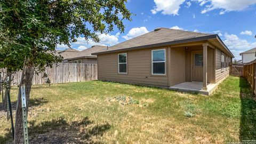
[[[17,108],[16,108],[16,116],[15,116],[15,130],[14,130],[14,143],[22,143],[23,141],[23,120],[22,120],[22,107],[21,107],[21,92],[20,88],[22,84],[25,84],[25,93],[26,93],[26,103],[28,109],[28,101],[29,101],[29,94],[32,85],[32,79],[34,76],[35,68],[33,65],[26,66],[23,68],[20,86],[19,86],[19,93],[17,99]]]

